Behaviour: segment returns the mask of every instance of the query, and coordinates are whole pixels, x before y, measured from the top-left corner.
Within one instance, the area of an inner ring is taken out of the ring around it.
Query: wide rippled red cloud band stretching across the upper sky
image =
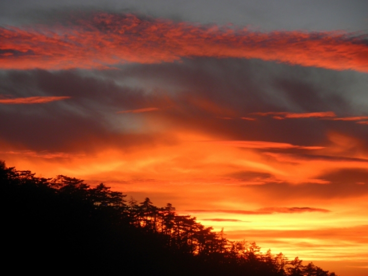
[[[54,26],[0,28],[3,69],[106,68],[182,57],[259,58],[368,72],[367,34],[252,32],[132,14],[95,13]]]

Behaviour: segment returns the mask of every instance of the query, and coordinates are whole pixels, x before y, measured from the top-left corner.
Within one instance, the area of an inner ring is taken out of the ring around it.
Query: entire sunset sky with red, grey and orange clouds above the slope
[[[0,159],[368,274],[366,1],[0,2]]]

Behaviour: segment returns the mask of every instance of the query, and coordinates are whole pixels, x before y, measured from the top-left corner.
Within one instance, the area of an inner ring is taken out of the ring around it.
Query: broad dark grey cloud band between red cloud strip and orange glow
[[[152,141],[155,134],[142,131],[151,119],[165,128],[207,132],[224,140],[303,146],[324,146],[329,143],[327,133],[335,131],[360,139],[357,150],[367,147],[366,125],[316,118],[274,120],[250,114],[333,111],[338,116],[367,116],[368,109],[356,108],[344,95],[349,92],[358,99],[368,87],[368,78],[356,72],[259,60],[186,59],[106,71],[3,71],[0,80],[0,94],[7,97],[72,97],[42,105],[0,105],[1,116],[8,118],[0,123],[1,139],[33,149],[62,150],[80,144],[88,148],[96,143],[120,146],[118,141],[130,139],[122,136],[129,135],[142,136],[134,143],[145,136]],[[363,98],[360,102],[368,107]],[[156,111],[117,114],[142,108]]]

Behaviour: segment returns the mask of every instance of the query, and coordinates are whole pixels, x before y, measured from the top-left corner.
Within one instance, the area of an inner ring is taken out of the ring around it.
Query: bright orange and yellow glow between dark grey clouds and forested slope
[[[296,189],[305,182],[323,187],[329,182],[318,179],[318,175],[336,168],[366,168],[368,163],[347,158],[304,159],[298,156],[298,149],[293,154],[270,153],[267,143],[264,143],[264,151],[258,151],[228,143],[205,142],[216,137],[191,133],[180,136],[185,139],[173,144],[124,151],[101,148],[70,158],[45,159],[37,154],[19,158],[21,153],[13,152],[6,155],[7,165],[30,169],[45,177],[66,174],[93,185],[105,182],[138,200],[148,196],[158,206],[170,202],[179,214],[195,216],[203,225],[213,226],[215,231],[224,228],[230,240],[256,241],[263,251],[271,248],[272,252],[282,251],[289,258],[366,260],[366,196],[326,199],[311,194],[295,198],[285,194],[285,198],[279,199],[261,188],[273,183],[284,189],[284,182],[291,183],[288,189]],[[332,143],[331,148],[317,151],[332,154],[346,146],[347,141],[340,139]],[[314,150],[309,152],[313,154]],[[257,212],[273,207],[312,207],[329,212],[278,213],[270,209],[269,214],[231,213],[231,210]],[[227,213],[211,210],[227,210]]]

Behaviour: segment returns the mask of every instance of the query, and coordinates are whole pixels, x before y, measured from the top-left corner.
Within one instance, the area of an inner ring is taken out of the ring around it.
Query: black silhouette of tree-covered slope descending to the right
[[[103,183],[36,177],[1,160],[0,181],[2,263],[12,274],[335,276]]]

